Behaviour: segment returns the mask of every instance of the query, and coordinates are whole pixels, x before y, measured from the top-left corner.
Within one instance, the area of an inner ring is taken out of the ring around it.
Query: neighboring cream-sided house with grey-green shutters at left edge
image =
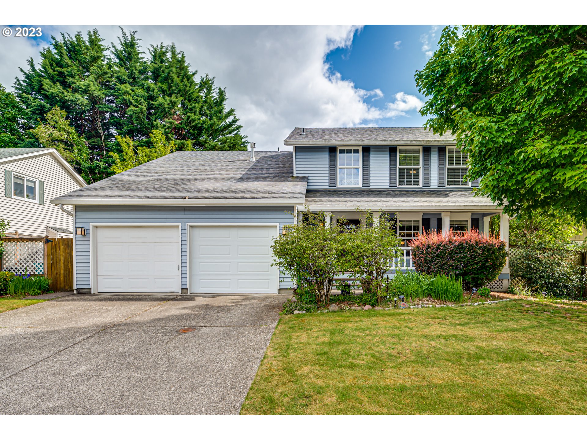
[[[49,200],[86,185],[55,148],[0,148],[0,218],[10,221],[6,236],[72,237],[72,207]]]

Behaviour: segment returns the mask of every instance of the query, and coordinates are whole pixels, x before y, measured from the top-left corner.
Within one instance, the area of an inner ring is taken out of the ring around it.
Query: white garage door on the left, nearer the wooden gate
[[[100,226],[95,230],[95,292],[180,292],[178,226]]]

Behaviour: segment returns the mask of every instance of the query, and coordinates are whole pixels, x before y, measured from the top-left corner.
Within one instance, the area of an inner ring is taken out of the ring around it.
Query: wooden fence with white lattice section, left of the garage
[[[0,270],[44,275],[53,292],[73,290],[73,238],[6,237]]]

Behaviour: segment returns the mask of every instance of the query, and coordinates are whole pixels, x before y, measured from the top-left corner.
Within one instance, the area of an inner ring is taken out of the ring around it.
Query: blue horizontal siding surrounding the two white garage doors
[[[86,236],[75,236],[76,289],[90,287],[90,223],[181,223],[181,287],[187,287],[187,223],[294,222],[294,207],[130,207],[76,206],[76,227]],[[280,229],[281,232],[281,229]],[[279,274],[279,288],[291,289],[291,277]]]

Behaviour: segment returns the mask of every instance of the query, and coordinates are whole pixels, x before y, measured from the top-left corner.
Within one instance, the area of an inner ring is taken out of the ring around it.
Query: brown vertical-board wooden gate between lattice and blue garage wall
[[[53,292],[73,290],[73,238],[52,238],[45,245],[45,276]]]

